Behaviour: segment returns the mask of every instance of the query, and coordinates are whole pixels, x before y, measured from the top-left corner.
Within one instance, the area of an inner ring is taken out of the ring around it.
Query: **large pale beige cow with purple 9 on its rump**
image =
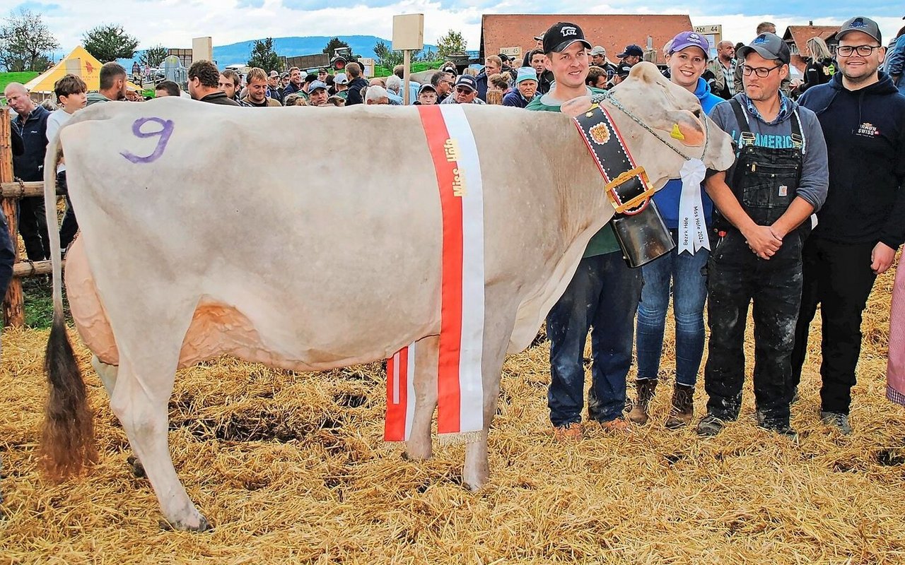
[[[702,115],[691,92],[651,64],[636,65],[603,104],[655,187],[678,176],[681,153],[715,170],[733,161],[729,136]],[[583,112],[590,100],[571,106]],[[483,430],[468,444],[462,472],[464,485],[478,489],[489,477],[487,430],[504,356],[529,346],[614,208],[570,116],[502,107],[462,111],[478,155],[513,155],[493,157],[480,172]],[[52,140],[44,170],[56,170],[65,153],[81,226],[67,254],[72,317],[174,527],[198,531],[208,523],[176,476],[167,401],[178,367],[219,355],[326,371],[385,359],[416,343],[406,452],[431,456],[442,232],[437,177],[418,112],[246,111],[172,98],[110,102],[83,110]],[[301,150],[271,141],[268,132],[278,126],[344,127],[354,134],[341,146]],[[683,135],[671,136],[676,128]],[[386,145],[387,134],[394,146]],[[223,177],[231,183],[218,183]],[[47,173],[49,211],[52,181]],[[59,241],[52,240],[43,459],[53,476],[67,476],[96,452],[62,315]]]

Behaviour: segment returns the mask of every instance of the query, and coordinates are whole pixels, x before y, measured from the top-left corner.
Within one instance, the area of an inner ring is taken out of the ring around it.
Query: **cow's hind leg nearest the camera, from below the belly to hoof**
[[[207,520],[198,513],[176,476],[167,443],[167,400],[173,391],[175,363],[174,372],[169,373],[143,367],[141,377],[125,355],[120,354],[119,363],[110,407],[122,422],[129,445],[144,464],[160,509],[177,530],[207,530]]]

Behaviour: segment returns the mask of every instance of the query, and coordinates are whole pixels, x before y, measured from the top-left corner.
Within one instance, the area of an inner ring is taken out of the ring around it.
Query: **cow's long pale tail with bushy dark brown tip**
[[[44,158],[44,206],[53,267],[53,324],[44,356],[50,393],[44,409],[41,439],[42,466],[55,479],[79,474],[83,466],[98,457],[85,382],[72,352],[62,310],[62,257],[56,213],[56,169],[61,155],[60,136],[57,135],[48,144]]]

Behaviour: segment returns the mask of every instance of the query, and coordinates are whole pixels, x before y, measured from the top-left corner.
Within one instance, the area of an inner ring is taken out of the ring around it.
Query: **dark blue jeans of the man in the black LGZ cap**
[[[641,294],[641,272],[622,253],[581,259],[566,293],[547,315],[550,339],[550,421],[581,421],[585,405],[583,362],[591,330],[591,391],[588,418],[606,422],[622,415],[625,375],[632,365],[633,318]]]

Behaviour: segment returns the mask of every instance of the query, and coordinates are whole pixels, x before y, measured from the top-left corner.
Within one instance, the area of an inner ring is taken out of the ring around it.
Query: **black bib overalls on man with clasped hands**
[[[805,139],[797,114],[792,120],[792,146],[755,146],[748,115],[730,100],[741,131],[735,173],[729,187],[748,216],[771,225],[795,200],[801,181]],[[754,301],[754,393],[757,417],[767,427],[788,425],[791,400],[795,321],[801,303],[802,240],[805,227],[790,231],[770,259],[760,259],[744,236],[715,211],[719,239],[708,263],[710,346],[704,368],[708,411],[720,419],[737,419],[745,378],[745,325]]]

